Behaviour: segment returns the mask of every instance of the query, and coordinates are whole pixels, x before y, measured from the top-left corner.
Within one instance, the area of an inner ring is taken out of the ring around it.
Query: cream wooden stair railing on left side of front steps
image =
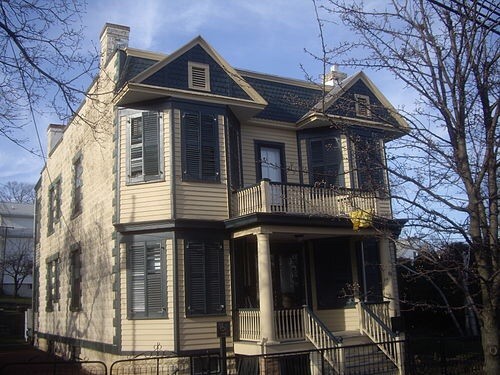
[[[306,338],[317,349],[323,350],[325,360],[328,361],[337,374],[343,374],[345,352],[342,349],[342,339],[334,336],[309,307],[304,307],[303,314]]]

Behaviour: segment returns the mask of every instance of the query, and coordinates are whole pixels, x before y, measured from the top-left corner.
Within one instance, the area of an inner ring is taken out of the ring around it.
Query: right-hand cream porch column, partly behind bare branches
[[[387,237],[379,239],[383,294],[390,300],[389,313],[399,315],[399,293],[397,288],[396,255]]]

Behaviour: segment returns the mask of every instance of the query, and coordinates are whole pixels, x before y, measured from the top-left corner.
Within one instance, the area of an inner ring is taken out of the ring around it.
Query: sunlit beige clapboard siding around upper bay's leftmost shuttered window
[[[162,113],[163,170],[160,181],[127,184],[127,122],[120,118],[120,222],[167,220],[172,217],[170,196],[170,111]]]

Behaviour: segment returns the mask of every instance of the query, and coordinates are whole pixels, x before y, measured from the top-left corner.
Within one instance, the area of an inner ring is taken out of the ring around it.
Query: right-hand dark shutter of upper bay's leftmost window
[[[157,112],[144,112],[143,148],[144,180],[157,179],[160,176],[160,123]]]

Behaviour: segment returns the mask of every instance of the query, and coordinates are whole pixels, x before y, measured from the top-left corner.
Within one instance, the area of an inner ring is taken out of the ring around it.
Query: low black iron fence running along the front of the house
[[[109,368],[110,375],[476,375],[481,374],[480,341],[466,338],[411,338],[400,341],[403,364],[398,367],[380,347],[383,343],[340,346],[330,349],[228,356],[226,366],[218,354],[154,355],[123,359]],[[404,344],[404,345],[403,345]],[[341,366],[331,358],[342,358]],[[0,375],[107,375],[104,363],[28,362],[0,367]]]

